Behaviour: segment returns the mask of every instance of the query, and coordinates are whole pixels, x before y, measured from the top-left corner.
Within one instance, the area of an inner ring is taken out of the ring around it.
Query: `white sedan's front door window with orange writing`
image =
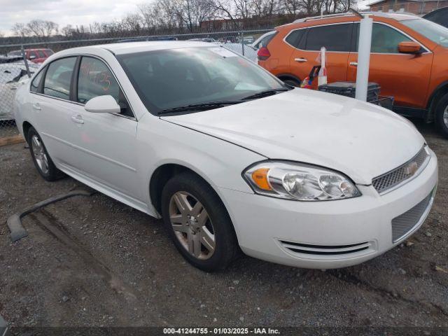
[[[85,104],[94,97],[106,94],[115,98],[122,114],[134,116],[125,95],[106,64],[97,58],[83,57],[78,74],[78,102]]]

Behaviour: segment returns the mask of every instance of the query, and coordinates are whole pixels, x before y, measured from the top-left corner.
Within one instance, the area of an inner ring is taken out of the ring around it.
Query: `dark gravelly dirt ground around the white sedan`
[[[448,140],[417,124],[440,181],[426,223],[405,244],[355,267],[309,270],[243,257],[225,272],[188,265],[162,222],[109,197],[74,197],[8,216],[76,188],[43,181],[23,144],[0,148],[0,315],[12,326],[448,326]]]

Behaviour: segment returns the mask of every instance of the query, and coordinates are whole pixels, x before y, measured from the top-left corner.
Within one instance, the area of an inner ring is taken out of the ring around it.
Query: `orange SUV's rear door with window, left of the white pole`
[[[320,65],[318,55],[325,47],[328,82],[346,80],[352,28],[353,22],[344,22],[291,31],[285,41],[295,48],[290,59],[293,74],[301,80],[309,76],[313,66]]]

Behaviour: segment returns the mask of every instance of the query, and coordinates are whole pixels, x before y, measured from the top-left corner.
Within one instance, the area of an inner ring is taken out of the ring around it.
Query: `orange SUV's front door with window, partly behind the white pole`
[[[347,79],[356,80],[358,65],[359,24],[353,32],[353,52],[348,61]],[[393,96],[395,105],[426,108],[433,53],[421,46],[423,53],[409,55],[398,52],[398,43],[414,41],[402,31],[383,22],[374,22],[370,50],[370,82],[381,86],[381,95]]]

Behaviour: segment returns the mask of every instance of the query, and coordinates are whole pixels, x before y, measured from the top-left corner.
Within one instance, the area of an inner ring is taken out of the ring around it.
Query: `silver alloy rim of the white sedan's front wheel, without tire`
[[[169,221],[183,248],[195,258],[211,258],[216,248],[215,230],[207,209],[196,197],[185,191],[172,195]]]

